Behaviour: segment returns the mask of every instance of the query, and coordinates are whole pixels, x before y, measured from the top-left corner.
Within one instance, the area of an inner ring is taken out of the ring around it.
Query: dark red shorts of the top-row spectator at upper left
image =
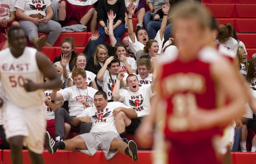
[[[66,2],[66,20],[76,19],[78,22],[82,19],[84,15],[91,9],[94,8],[92,5],[78,6],[70,4],[67,0],[61,0]],[[60,2],[61,2],[60,1]]]

